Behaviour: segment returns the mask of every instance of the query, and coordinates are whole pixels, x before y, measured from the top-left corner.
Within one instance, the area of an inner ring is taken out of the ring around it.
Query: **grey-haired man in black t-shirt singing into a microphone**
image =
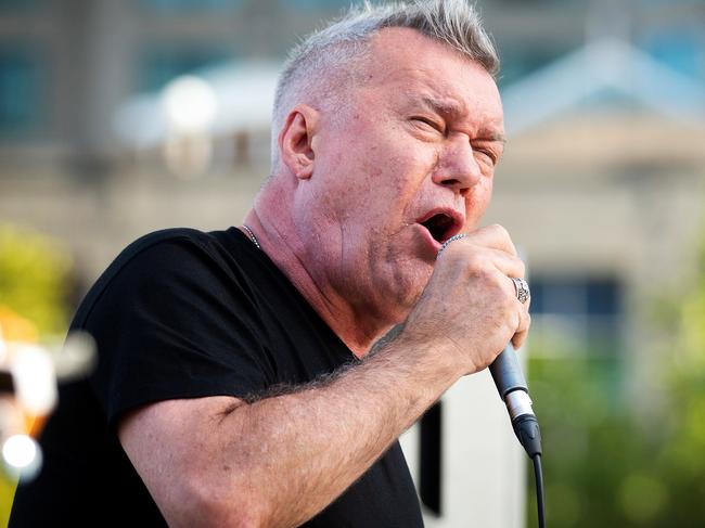
[[[461,0],[360,8],[296,48],[244,223],[140,239],[80,306],[99,364],[11,526],[423,526],[397,438],[529,327],[523,262],[479,228],[497,68]]]

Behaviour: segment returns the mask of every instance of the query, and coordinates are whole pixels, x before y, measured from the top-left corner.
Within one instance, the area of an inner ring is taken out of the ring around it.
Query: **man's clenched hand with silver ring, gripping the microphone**
[[[487,368],[508,342],[524,343],[528,301],[517,300],[511,276],[524,262],[507,230],[487,226],[447,241],[405,324],[405,334],[451,362],[458,377]]]

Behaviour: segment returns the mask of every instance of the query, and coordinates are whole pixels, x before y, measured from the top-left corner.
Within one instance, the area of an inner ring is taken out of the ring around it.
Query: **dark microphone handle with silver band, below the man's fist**
[[[511,344],[489,365],[499,397],[507,404],[512,427],[529,458],[541,454],[541,432],[531,409],[524,373]]]

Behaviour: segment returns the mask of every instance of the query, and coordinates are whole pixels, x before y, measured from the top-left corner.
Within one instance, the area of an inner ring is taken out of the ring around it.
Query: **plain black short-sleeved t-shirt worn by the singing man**
[[[41,437],[43,467],[18,487],[11,527],[164,526],[117,439],[151,402],[246,398],[300,385],[357,359],[238,229],[174,229],[128,246],[79,307],[98,344],[89,378],[60,389]],[[306,527],[420,527],[398,442]]]

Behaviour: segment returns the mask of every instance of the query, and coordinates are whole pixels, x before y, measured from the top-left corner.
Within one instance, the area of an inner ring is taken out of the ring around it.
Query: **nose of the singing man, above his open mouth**
[[[483,171],[475,159],[467,136],[449,138],[438,156],[432,181],[465,196],[479,181]]]

